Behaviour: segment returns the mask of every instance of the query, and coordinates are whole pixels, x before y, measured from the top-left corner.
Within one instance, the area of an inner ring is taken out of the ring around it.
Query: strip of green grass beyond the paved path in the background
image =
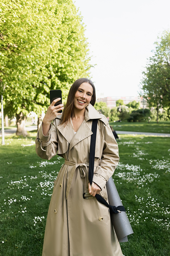
[[[170,121],[166,122],[150,122],[148,123],[129,123],[129,122],[110,122],[109,123],[116,131],[139,131],[139,132],[158,132],[170,133]]]

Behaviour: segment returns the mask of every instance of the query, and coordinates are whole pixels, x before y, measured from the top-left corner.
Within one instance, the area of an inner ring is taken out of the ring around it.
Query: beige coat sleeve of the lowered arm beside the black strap
[[[101,189],[104,188],[106,182],[113,175],[119,163],[118,144],[113,136],[109,124],[103,126],[101,136],[104,137],[104,147],[101,163],[100,166],[97,167],[93,176],[93,182],[95,182]]]

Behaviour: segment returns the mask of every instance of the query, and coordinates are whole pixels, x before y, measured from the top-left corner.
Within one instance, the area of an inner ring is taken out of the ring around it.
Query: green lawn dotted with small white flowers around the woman
[[[63,163],[57,156],[47,163],[39,158],[33,144],[36,133],[30,134],[26,139],[5,138],[6,145],[0,146],[3,256],[41,255],[53,180]],[[134,230],[129,242],[121,243],[122,252],[169,256],[170,138],[121,135],[118,144],[120,164],[113,177]]]

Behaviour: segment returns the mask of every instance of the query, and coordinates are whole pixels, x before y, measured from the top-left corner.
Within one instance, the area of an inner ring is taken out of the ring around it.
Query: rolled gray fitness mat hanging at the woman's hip
[[[123,205],[112,177],[106,183],[106,188],[109,204],[116,207]],[[128,242],[127,236],[133,234],[133,229],[126,213],[112,213],[111,220],[119,242]]]

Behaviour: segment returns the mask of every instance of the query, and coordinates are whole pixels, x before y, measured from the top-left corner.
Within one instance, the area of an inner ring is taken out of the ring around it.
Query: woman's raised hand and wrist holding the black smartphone
[[[54,106],[56,102],[61,100],[61,98],[57,98],[53,100],[51,105],[48,107],[47,112],[43,118],[43,134],[44,136],[47,135],[50,129],[51,122],[56,118],[56,116],[61,115],[62,113],[58,113],[58,111],[63,110],[63,104]]]

